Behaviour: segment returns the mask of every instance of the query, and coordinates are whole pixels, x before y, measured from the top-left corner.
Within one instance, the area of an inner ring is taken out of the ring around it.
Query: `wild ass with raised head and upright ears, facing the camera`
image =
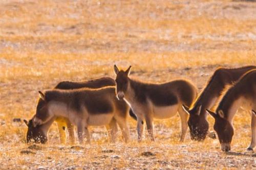
[[[187,113],[182,104],[190,106],[197,96],[196,87],[186,80],[174,80],[163,84],[144,83],[129,78],[131,66],[123,71],[114,65],[116,94],[124,99],[137,116],[138,141],[142,140],[143,120],[154,141],[153,119],[164,119],[176,115],[181,117],[181,137],[184,141],[187,131]]]

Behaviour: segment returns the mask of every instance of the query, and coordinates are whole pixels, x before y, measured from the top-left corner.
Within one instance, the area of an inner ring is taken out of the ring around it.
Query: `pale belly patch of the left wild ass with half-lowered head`
[[[96,114],[89,115],[87,124],[89,126],[108,125],[113,118],[114,114]]]

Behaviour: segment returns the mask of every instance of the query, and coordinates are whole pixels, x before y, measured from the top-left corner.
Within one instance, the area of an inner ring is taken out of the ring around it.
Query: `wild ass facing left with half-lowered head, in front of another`
[[[88,126],[108,125],[114,119],[122,131],[125,142],[130,138],[126,121],[129,106],[124,101],[116,99],[113,86],[99,89],[53,89],[45,93],[39,91],[39,95],[33,119],[34,126],[47,123],[54,116],[66,117],[77,126],[78,139],[82,143],[83,132],[90,142]]]

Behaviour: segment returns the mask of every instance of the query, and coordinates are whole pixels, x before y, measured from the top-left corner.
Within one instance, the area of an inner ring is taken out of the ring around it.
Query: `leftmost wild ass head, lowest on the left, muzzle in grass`
[[[33,116],[34,118],[34,116]],[[29,121],[24,119],[24,123],[27,125],[28,130],[26,134],[26,141],[27,143],[35,142],[35,143],[46,143],[47,136],[42,131],[41,126],[38,125],[36,127],[33,126],[33,118]]]

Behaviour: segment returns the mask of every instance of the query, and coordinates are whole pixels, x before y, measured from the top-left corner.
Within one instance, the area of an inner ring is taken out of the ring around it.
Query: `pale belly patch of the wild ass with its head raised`
[[[178,112],[178,105],[173,105],[173,106],[164,106],[164,107],[158,107],[158,106],[153,106],[153,111],[154,111],[154,118],[156,119],[164,119],[164,118],[169,118]]]

